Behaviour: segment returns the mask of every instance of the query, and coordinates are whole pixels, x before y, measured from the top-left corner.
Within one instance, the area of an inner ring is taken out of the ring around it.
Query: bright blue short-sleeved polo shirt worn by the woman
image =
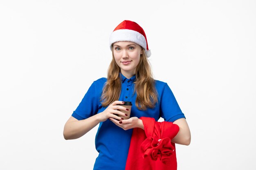
[[[158,93],[158,103],[155,108],[139,110],[135,106],[137,94],[133,93],[135,75],[130,79],[127,79],[122,74],[120,76],[122,85],[119,101],[132,102],[131,117],[153,117],[156,121],[162,117],[165,121],[171,122],[185,118],[166,83],[156,80],[155,87]],[[100,78],[92,83],[81,103],[73,112],[72,117],[82,120],[106,109],[100,102],[102,89],[106,81],[106,78]],[[94,163],[93,170],[125,170],[131,136],[132,129],[123,130],[110,120],[100,122],[95,138],[95,146],[99,156]]]

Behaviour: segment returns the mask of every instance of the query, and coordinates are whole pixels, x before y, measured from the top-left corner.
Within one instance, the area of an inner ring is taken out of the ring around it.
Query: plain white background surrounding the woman
[[[254,0],[0,0],[0,169],[92,170],[97,128],[65,140],[63,127],[132,20],[191,130],[178,170],[254,170],[255,16]]]

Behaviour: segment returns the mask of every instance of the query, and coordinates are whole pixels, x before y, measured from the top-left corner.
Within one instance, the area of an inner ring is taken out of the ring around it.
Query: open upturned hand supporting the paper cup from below
[[[130,119],[118,121],[113,118],[109,118],[110,121],[112,121],[114,124],[119,126],[120,128],[124,130],[132,129],[132,128],[141,128],[144,130],[144,125],[142,123],[142,120],[138,117],[130,117]]]

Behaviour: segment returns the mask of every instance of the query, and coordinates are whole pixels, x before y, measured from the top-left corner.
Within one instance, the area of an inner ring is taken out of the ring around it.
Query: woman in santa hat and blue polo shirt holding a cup
[[[154,80],[147,57],[146,34],[135,22],[121,22],[110,35],[112,62],[108,78],[92,83],[64,127],[65,139],[77,139],[99,124],[94,170],[124,170],[133,128],[144,129],[140,117],[163,117],[180,128],[173,143],[189,145],[190,131],[176,99],[164,82]],[[129,110],[124,101],[131,101]]]

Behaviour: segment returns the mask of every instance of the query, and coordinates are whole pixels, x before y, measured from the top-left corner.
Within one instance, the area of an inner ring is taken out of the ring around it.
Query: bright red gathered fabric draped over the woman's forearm
[[[144,130],[134,128],[125,170],[177,170],[175,144],[179,132],[172,122],[141,117]]]

